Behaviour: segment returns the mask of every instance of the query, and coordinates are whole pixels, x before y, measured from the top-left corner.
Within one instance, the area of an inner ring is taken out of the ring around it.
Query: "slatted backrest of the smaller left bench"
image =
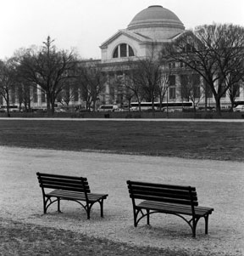
[[[64,191],[77,191],[90,193],[88,181],[83,177],[65,176],[56,174],[36,173],[39,185],[42,189],[55,189]]]

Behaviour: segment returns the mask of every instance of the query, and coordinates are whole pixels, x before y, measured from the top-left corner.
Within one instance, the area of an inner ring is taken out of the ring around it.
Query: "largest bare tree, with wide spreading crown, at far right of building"
[[[198,26],[165,44],[162,56],[185,63],[203,77],[214,94],[220,115],[221,98],[243,77],[243,49],[243,27],[213,24]]]

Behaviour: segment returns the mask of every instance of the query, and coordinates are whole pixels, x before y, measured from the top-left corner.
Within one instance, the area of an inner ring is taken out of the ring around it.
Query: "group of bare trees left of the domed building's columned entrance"
[[[57,101],[69,105],[79,88],[82,88],[80,91],[88,109],[92,102],[96,103],[104,82],[101,68],[86,65],[72,51],[59,51],[51,37],[47,37],[41,48],[19,49],[14,57],[0,62],[0,95],[7,103],[7,110],[9,94],[13,91],[16,94],[16,88],[19,106],[30,110],[31,88],[33,91],[36,85],[46,95],[49,113],[54,112]]]

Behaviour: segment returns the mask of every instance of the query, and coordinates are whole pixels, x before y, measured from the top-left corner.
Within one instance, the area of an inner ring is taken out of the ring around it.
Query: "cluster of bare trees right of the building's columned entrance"
[[[191,100],[196,106],[201,98],[207,100],[208,95],[213,94],[220,115],[220,100],[228,94],[232,107],[235,106],[244,81],[243,27],[198,26],[195,31],[186,31],[172,42],[164,43],[159,56],[158,51],[152,49],[146,60],[130,64],[129,87],[138,101],[146,95],[148,101],[159,98],[162,102],[170,88],[170,77],[178,72],[182,100]],[[168,69],[170,63],[180,64],[181,68],[171,65]],[[197,92],[199,85],[202,86],[200,93]]]

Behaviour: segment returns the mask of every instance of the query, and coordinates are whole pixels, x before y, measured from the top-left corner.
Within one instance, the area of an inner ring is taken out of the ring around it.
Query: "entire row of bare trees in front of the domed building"
[[[186,31],[171,43],[160,49],[152,45],[146,58],[128,59],[126,76],[113,81],[117,93],[125,94],[130,102],[132,97],[141,100],[163,102],[170,87],[170,77],[175,71],[181,72],[185,82],[181,95],[196,100],[194,84],[202,79],[202,92],[214,94],[216,110],[220,113],[220,99],[226,92],[232,105],[236,98],[236,85],[244,79],[244,28],[233,25],[198,26],[195,31]],[[171,63],[180,63],[182,68],[169,68]],[[183,68],[184,67],[184,68]],[[184,75],[184,76],[183,76]],[[46,94],[47,111],[54,111],[55,102],[69,105],[75,92],[86,101],[86,108],[95,105],[104,93],[108,76],[100,61],[81,61],[72,51],[59,51],[51,37],[41,48],[20,49],[13,58],[0,61],[0,95],[9,104],[9,92],[18,88],[19,104],[31,108],[31,88],[39,85]],[[168,95],[168,94],[167,94]],[[201,98],[197,94],[198,100]],[[206,98],[206,97],[205,97]]]

